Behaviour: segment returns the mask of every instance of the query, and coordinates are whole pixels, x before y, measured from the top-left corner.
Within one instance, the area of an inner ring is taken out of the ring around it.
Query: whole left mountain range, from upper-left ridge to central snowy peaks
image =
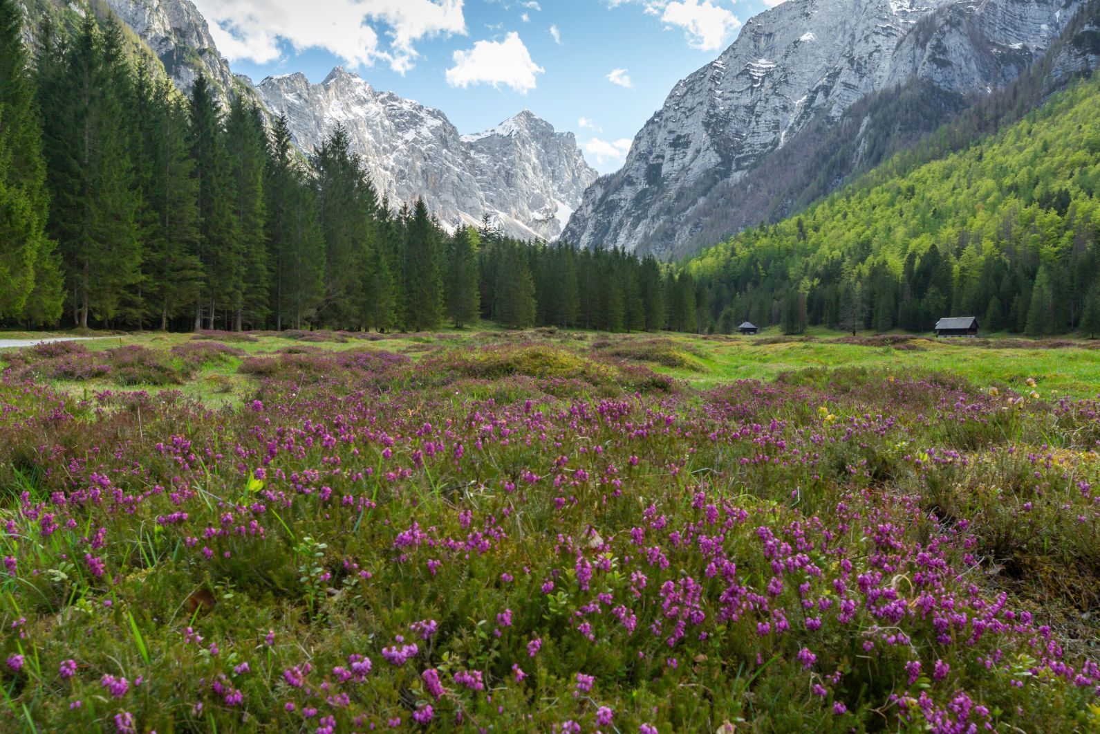
[[[25,6],[33,8],[29,26],[47,13],[72,18],[82,12],[68,0]],[[285,113],[305,153],[341,122],[392,206],[420,197],[449,227],[476,224],[487,215],[514,237],[553,240],[597,176],[572,133],[556,132],[526,110],[463,136],[441,111],[377,91],[342,68],[321,84],[293,74],[254,86],[232,73],[191,0],[105,0],[94,11],[129,28],[147,47],[143,53],[160,59],[185,95],[205,74],[223,101],[243,95],[270,116]]]

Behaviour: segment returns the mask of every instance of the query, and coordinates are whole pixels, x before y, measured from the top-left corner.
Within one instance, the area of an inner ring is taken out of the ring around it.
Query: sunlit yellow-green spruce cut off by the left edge
[[[0,0],[0,319],[50,324],[62,278],[46,235],[48,194],[42,130],[14,0]]]

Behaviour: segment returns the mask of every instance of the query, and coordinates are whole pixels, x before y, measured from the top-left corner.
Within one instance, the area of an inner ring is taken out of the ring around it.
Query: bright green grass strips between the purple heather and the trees
[[[488,326],[488,325],[484,325]],[[900,335],[900,332],[898,332]],[[2,339],[44,339],[69,336],[69,332],[11,332]],[[92,352],[127,344],[155,350],[169,350],[191,340],[189,333],[140,332],[130,335],[97,335],[84,346]],[[864,368],[905,376],[913,373],[948,372],[982,387],[1012,388],[1030,392],[1028,379],[1038,383],[1043,397],[1097,397],[1100,395],[1100,349],[1086,340],[1059,341],[1054,348],[1043,348],[1042,341],[1026,341],[1011,335],[993,335],[976,343],[969,340],[936,340],[914,337],[901,346],[867,346],[842,343],[845,337],[835,331],[815,329],[805,338],[782,339],[778,330],[766,330],[756,337],[707,336],[681,333],[601,335],[574,330],[532,330],[508,332],[481,327],[468,330],[441,330],[438,335],[387,335],[378,341],[301,342],[279,336],[257,336],[255,341],[232,341],[230,346],[249,355],[272,354],[295,346],[308,346],[329,351],[380,349],[405,354],[418,361],[438,350],[485,347],[522,341],[553,341],[573,349],[588,349],[593,343],[610,342],[614,352],[630,342],[652,342],[659,339],[667,351],[684,358],[684,366],[662,363],[660,355],[646,364],[653,371],[682,380],[693,387],[708,388],[736,380],[772,381],[778,375],[804,368]],[[1005,347],[998,347],[1004,342]],[[673,348],[673,349],[668,349]],[[0,350],[0,365],[4,352]],[[637,350],[640,351],[640,350]],[[637,359],[637,358],[635,358]],[[186,396],[209,404],[239,402],[250,377],[240,375],[240,360],[206,368],[183,386],[144,386],[148,392],[180,390]],[[110,380],[67,382],[55,381],[53,387],[66,391],[96,391],[116,387]],[[141,388],[142,386],[138,386]]]

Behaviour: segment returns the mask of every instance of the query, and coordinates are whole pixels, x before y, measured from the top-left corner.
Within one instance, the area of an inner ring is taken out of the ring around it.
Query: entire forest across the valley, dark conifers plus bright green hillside
[[[1100,333],[1094,80],[673,265],[449,231],[380,198],[343,129],[302,156],[205,78],[183,97],[113,22],[43,28],[33,57],[12,0],[0,23],[0,325]]]

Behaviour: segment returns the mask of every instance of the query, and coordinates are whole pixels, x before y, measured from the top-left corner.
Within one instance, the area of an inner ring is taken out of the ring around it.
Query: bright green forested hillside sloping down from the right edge
[[[686,264],[700,325],[926,330],[975,315],[987,330],[1100,332],[1098,187],[1093,78],[965,151],[894,158],[705,251]]]

